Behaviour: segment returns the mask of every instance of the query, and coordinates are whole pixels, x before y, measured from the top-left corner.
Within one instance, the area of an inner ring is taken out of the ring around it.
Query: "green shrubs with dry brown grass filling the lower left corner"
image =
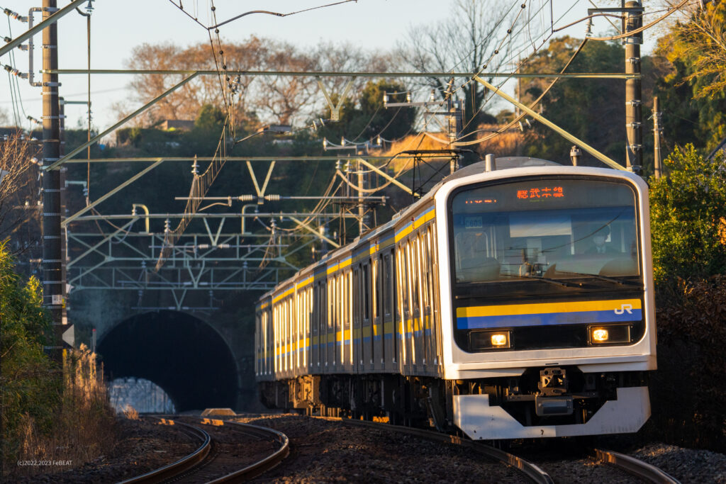
[[[64,350],[62,366],[44,351],[49,319],[38,280],[21,284],[0,243],[0,411],[2,476],[47,472],[18,460],[79,466],[113,445],[114,416],[96,355]],[[62,470],[58,468],[55,470]]]

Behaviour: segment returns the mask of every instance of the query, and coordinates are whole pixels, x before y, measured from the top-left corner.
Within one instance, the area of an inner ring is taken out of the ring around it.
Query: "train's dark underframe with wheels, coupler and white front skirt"
[[[636,432],[650,417],[647,372],[531,368],[518,377],[442,380],[400,374],[322,374],[259,382],[269,408],[387,418],[461,430],[473,439]]]

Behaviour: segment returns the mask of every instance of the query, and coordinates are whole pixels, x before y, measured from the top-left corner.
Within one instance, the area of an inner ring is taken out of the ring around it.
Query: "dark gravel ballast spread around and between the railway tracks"
[[[526,483],[520,472],[467,448],[401,435],[392,430],[354,427],[335,419],[298,414],[242,414],[239,422],[272,427],[290,438],[290,456],[258,477],[258,483]],[[120,420],[112,455],[78,469],[57,469],[18,482],[118,482],[176,461],[198,443],[174,427],[144,420]],[[608,448],[608,446],[605,446]],[[726,484],[726,455],[652,443],[629,451],[684,484]],[[559,449],[552,441],[539,451],[521,453],[558,482],[636,483],[634,477]]]

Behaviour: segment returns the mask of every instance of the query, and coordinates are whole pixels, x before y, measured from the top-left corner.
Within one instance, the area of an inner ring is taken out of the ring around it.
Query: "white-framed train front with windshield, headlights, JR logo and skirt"
[[[454,179],[436,198],[454,424],[473,439],[640,429],[656,369],[645,182],[511,168]]]

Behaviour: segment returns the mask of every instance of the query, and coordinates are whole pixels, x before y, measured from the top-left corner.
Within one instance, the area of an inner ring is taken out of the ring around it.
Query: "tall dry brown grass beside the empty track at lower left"
[[[106,454],[113,446],[114,414],[97,372],[96,354],[85,345],[63,356],[63,395],[54,424],[42,432],[31,417],[23,422],[20,461],[51,462],[18,466],[13,475],[33,475],[78,467]],[[69,464],[60,464],[68,463]]]

